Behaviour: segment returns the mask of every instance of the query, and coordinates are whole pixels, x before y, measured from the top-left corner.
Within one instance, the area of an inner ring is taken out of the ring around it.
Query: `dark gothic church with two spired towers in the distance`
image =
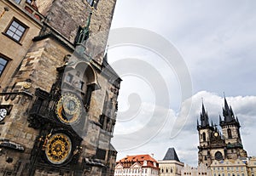
[[[219,116],[219,126],[209,123],[209,117],[202,104],[200,122],[197,121],[199,133],[198,162],[209,167],[213,160],[222,161],[247,157],[243,149],[240,134],[240,122],[231,106],[224,98],[223,117]]]

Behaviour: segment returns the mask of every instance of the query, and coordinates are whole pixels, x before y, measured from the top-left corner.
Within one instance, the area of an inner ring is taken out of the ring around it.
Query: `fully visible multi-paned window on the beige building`
[[[23,25],[19,20],[14,19],[5,34],[17,42],[20,42],[21,37],[26,31],[26,26]]]

